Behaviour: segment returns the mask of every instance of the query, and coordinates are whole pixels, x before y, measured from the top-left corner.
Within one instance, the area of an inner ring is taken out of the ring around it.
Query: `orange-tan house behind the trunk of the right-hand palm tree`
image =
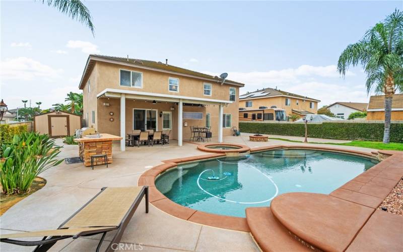
[[[385,108],[384,108],[385,96],[374,95],[369,98],[369,104],[367,109],[367,120],[384,120]],[[403,120],[403,94],[394,94],[392,99],[392,121]]]

